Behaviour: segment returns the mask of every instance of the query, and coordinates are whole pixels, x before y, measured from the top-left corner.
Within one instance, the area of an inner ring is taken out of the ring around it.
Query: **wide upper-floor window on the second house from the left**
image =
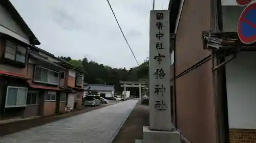
[[[47,68],[35,66],[34,81],[50,84],[59,83],[59,73]]]

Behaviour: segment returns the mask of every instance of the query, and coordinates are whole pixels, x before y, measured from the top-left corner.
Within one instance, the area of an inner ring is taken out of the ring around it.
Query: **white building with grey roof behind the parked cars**
[[[91,87],[90,90],[97,90],[99,92],[100,97],[105,99],[114,98],[115,88],[114,85],[105,85],[105,84],[89,84]]]

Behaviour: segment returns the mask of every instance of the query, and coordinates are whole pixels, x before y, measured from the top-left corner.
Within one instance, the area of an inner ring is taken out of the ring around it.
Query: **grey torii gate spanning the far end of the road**
[[[126,87],[139,88],[139,100],[141,100],[141,88],[147,87],[146,81],[120,81],[121,87],[124,88],[123,99],[126,100]]]

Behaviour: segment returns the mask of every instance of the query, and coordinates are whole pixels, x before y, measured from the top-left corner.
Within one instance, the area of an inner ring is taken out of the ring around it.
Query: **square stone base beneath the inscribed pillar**
[[[135,140],[135,143],[181,143],[180,132],[154,131],[149,126],[143,126],[143,140]]]

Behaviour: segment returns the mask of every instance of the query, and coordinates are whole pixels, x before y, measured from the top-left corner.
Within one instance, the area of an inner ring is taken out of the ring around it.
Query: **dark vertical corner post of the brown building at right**
[[[221,0],[211,1],[211,27],[214,31],[223,31],[222,25],[222,5]],[[235,58],[236,55],[233,57]],[[211,51],[212,59],[212,84],[214,90],[214,116],[216,125],[216,142],[229,142],[229,127],[227,113],[226,75],[223,66],[233,60],[225,62],[225,55],[221,57],[219,52]],[[217,70],[218,69],[218,70]]]

